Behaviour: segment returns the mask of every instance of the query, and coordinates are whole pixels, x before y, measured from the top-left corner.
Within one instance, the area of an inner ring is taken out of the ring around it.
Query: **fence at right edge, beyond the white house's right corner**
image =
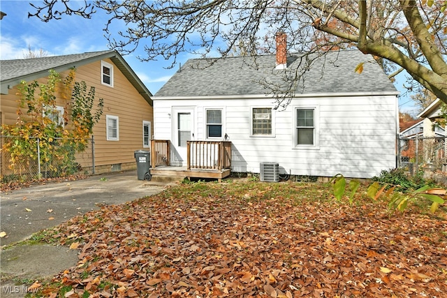
[[[446,137],[400,137],[398,161],[411,175],[447,172]]]

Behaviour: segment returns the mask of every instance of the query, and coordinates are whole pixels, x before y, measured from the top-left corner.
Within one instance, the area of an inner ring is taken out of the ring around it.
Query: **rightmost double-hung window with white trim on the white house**
[[[295,146],[316,146],[316,108],[295,108]]]

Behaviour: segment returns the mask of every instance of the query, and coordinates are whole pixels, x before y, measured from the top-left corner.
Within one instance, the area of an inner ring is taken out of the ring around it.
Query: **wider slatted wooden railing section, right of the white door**
[[[231,166],[231,142],[187,141],[187,170],[223,170]]]

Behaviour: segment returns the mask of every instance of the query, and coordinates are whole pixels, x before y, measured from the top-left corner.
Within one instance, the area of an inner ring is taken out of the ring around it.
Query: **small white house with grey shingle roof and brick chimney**
[[[228,140],[232,172],[272,162],[283,174],[367,178],[396,167],[398,92],[373,57],[310,56],[281,110],[268,86],[308,66],[283,43],[276,55],[191,59],[155,94],[154,139],[170,140],[170,165],[186,165],[186,140]]]

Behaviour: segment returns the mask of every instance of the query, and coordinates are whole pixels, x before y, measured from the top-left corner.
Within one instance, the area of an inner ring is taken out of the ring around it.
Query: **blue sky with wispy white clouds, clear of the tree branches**
[[[43,50],[50,55],[78,54],[82,52],[94,52],[108,50],[108,43],[104,37],[103,28],[108,20],[105,14],[94,15],[90,20],[85,20],[77,15],[64,16],[62,20],[42,22],[36,17],[28,18],[28,12],[33,11],[29,0],[0,1],[0,10],[6,13],[0,21],[0,59],[23,59],[24,54],[31,50]],[[41,1],[32,1],[36,4]],[[115,30],[120,30],[115,24]],[[125,30],[125,28],[121,28]],[[116,32],[115,31],[115,32]],[[178,66],[166,69],[170,61],[142,62],[136,57],[144,56],[142,46],[132,54],[124,56],[127,63],[140,77],[152,94],[155,94],[165,82],[177,71]],[[191,58],[191,54],[180,54],[177,64]],[[402,75],[400,77],[403,77]],[[395,86],[403,92],[404,79],[397,80]],[[401,112],[416,114],[417,108],[413,107],[413,101],[408,97],[399,99]]]

